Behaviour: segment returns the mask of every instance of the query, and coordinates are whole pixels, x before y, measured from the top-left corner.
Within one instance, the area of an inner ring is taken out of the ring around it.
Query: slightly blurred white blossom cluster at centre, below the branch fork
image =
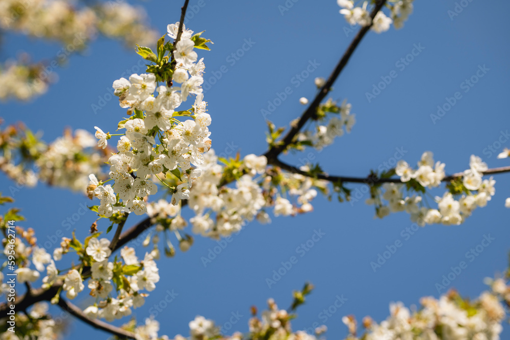
[[[209,152],[200,166],[201,175],[191,188],[188,204],[196,216],[190,219],[193,232],[218,238],[241,230],[254,218],[269,223],[267,210],[273,207],[275,216],[290,216],[313,210],[310,202],[317,196],[315,187],[326,190],[326,184],[316,179],[267,168],[265,156],[248,154],[241,160],[222,160]],[[236,178],[235,188],[221,186],[224,178]],[[257,177],[256,177],[257,176]],[[295,204],[282,196],[295,197]],[[213,218],[213,214],[215,217]]]

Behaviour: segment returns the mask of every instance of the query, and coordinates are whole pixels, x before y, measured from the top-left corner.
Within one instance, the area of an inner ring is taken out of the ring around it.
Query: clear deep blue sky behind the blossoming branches
[[[314,77],[327,77],[358,30],[349,31],[334,0],[292,3],[288,11],[282,12],[278,6],[285,6],[284,0],[203,0],[203,7],[190,1],[195,13],[187,20],[187,27],[195,32],[206,30],[204,36],[214,42],[211,51],[200,52],[199,56],[205,57],[205,80],[215,83],[206,91],[205,100],[213,119],[210,130],[217,153],[264,152],[266,123],[261,110],[267,110],[268,101],[274,102],[278,93],[290,86],[292,93],[266,118],[283,126],[298,117],[303,110],[298,99],[313,97]],[[137,4],[146,8],[151,24],[161,34],[168,23],[179,19],[182,6],[180,1]],[[415,165],[421,154],[430,150],[436,160],[446,163],[447,173],[467,169],[471,154],[479,155],[489,167],[508,165],[506,160],[497,160],[496,155],[504,146],[510,146],[510,141],[498,142],[507,139],[510,128],[510,22],[506,18],[510,4],[473,1],[451,18],[448,11],[454,7],[451,0],[416,2],[415,12],[402,30],[369,33],[331,92],[334,99],[348,98],[352,103],[357,120],[352,133],[321,152],[307,150],[283,159],[299,164],[309,158],[320,162],[331,174],[358,176],[366,176],[370,169],[384,168],[396,152]],[[243,45],[243,53],[238,52]],[[422,50],[415,50],[413,61],[403,67],[399,61],[417,45]],[[36,59],[50,59],[61,48],[13,34],[5,36],[4,46],[9,48],[0,50],[1,60],[22,50],[31,52]],[[242,56],[234,58],[233,53]],[[47,141],[60,136],[66,126],[93,132],[97,125],[113,132],[124,113],[117,101],[108,101],[97,112],[92,105],[97,105],[110,92],[112,82],[138,61],[134,50],[99,38],[83,55],[72,56],[68,65],[55,70],[59,81],[46,95],[29,103],[3,103],[0,112],[7,123],[23,120],[31,129],[43,130]],[[309,63],[318,65],[308,79],[296,82],[295,75]],[[480,68],[485,69],[483,77],[465,92],[466,79]],[[388,79],[392,71],[396,77],[369,101],[366,93],[381,82],[381,77]],[[455,92],[462,97],[433,122],[430,115],[437,114],[437,107],[443,107]],[[496,175],[495,179],[496,195],[492,201],[461,226],[432,225],[411,234],[405,230],[412,228],[409,215],[374,219],[373,207],[364,203],[368,194],[361,191],[362,186],[351,185],[354,191],[360,190],[359,201],[339,203],[318,197],[313,202],[313,213],[273,218],[270,225],[249,223],[231,242],[222,244],[224,249],[207,266],[201,258],[221,245],[196,237],[188,252],[177,252],[174,258],[159,262],[161,281],[157,290],[134,314],[141,320],[165,299],[167,291],[173,290],[178,295],[158,312],[161,334],[188,335],[188,322],[195,315],[214,319],[221,326],[237,312],[242,317],[233,330],[246,331],[251,305],[261,310],[266,299],[273,297],[279,306],[287,308],[292,290],[311,281],[316,290],[299,309],[293,328],[324,322],[321,312],[339,296],[344,299],[343,305],[325,321],[327,337],[338,338],[347,333],[342,316],[353,314],[361,320],[371,315],[381,321],[388,315],[390,301],[409,306],[417,304],[422,296],[438,297],[436,283],[461,261],[467,267],[448,288],[455,287],[463,295],[475,297],[486,289],[484,277],[506,268],[510,250],[505,241],[510,236],[510,211],[503,206],[504,199],[510,196],[510,175]],[[6,191],[9,181],[3,175],[0,181],[2,191]],[[44,185],[23,189],[15,199],[27,217],[24,225],[33,227],[40,240],[60,228],[81,203],[90,204],[81,195]],[[93,213],[87,213],[73,227],[85,235],[93,220]],[[130,218],[128,224],[135,220]],[[297,249],[316,232],[324,236],[313,242],[312,248],[307,247],[309,251]],[[494,240],[470,261],[466,253],[481,244],[484,237]],[[378,254],[396,241],[402,246],[374,272],[371,261],[376,261]],[[282,262],[292,256],[297,262],[268,287],[266,278],[271,278],[273,270],[278,271]],[[226,328],[225,332],[231,333]],[[69,334],[77,339],[106,337],[79,322],[70,326]],[[505,329],[502,338],[507,336]]]

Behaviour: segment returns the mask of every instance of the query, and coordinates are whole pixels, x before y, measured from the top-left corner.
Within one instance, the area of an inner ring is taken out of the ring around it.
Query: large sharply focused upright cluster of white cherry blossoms
[[[168,36],[174,40],[177,31],[179,22],[168,25]],[[125,129],[125,133],[118,134],[118,152],[108,161],[114,184],[104,186],[90,176],[88,190],[101,201],[99,215],[110,217],[119,211],[146,213],[145,197],[158,191],[155,178],[172,193],[172,204],[188,198],[189,187],[200,175],[192,165],[201,165],[202,154],[211,147],[211,116],[206,112],[207,102],[203,101],[200,87],[205,65],[203,58],[197,61],[194,51],[195,45],[204,48],[204,40],[200,33],[193,36],[193,31],[183,25],[181,39],[175,46],[164,44],[164,37],[158,41],[158,56],[150,48],[139,47],[138,54],[156,64],[147,68],[148,73],[132,74],[129,80],[121,78],[113,83],[120,106],[128,109],[131,117],[119,122],[118,129]],[[168,55],[164,56],[166,51]],[[172,86],[173,82],[180,86]],[[191,109],[176,111],[191,94],[196,95]],[[98,146],[106,148],[112,135],[97,126],[95,129]],[[169,187],[161,178],[168,174],[187,180]]]

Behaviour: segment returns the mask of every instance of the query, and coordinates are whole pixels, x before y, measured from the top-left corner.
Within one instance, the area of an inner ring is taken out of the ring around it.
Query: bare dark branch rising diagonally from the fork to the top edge
[[[370,17],[373,19],[377,12],[386,4],[386,0],[381,0],[377,3],[374,10],[370,14]],[[338,76],[340,75],[340,72],[344,69],[345,65],[347,65],[347,62],[349,61],[350,57],[354,53],[354,50],[358,45],[360,44],[361,40],[367,34],[368,30],[372,26],[372,23],[368,26],[363,27],[358,34],[354,37],[354,40],[350,43],[349,47],[347,47],[347,50],[345,51],[342,59],[337,64],[337,67],[333,70],[333,73],[329,75],[328,80],[324,84],[324,86],[320,89],[319,93],[315,96],[314,100],[310,104],[310,106],[303,112],[299,120],[296,124],[292,125],[290,130],[287,132],[285,137],[279,141],[275,146],[271,147],[267,152],[264,154],[268,160],[269,163],[274,161],[280,153],[285,151],[285,149],[293,142],[294,138],[296,137],[299,130],[304,126],[304,124],[312,118],[316,112],[317,108],[319,107],[319,104],[321,101],[326,97],[326,95],[329,93],[331,86],[335,83]]]

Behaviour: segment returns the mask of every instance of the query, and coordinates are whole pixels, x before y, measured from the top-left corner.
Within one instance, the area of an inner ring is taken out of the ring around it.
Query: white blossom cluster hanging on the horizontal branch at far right
[[[445,178],[445,164],[434,162],[430,151],[424,152],[418,162],[418,168],[412,169],[405,161],[399,161],[395,173],[400,176],[402,184],[386,183],[382,190],[374,187],[367,204],[376,206],[377,217],[385,217],[390,212],[405,211],[411,214],[411,220],[421,226],[442,223],[459,225],[469,217],[476,207],[483,207],[495,194],[493,177],[482,179],[487,164],[478,156],[471,155],[470,168],[463,176],[452,179],[447,185],[448,191],[442,197],[436,197],[437,208],[426,204],[424,194],[426,188],[437,188]],[[415,192],[408,196],[403,193]],[[382,200],[388,203],[384,204]]]

